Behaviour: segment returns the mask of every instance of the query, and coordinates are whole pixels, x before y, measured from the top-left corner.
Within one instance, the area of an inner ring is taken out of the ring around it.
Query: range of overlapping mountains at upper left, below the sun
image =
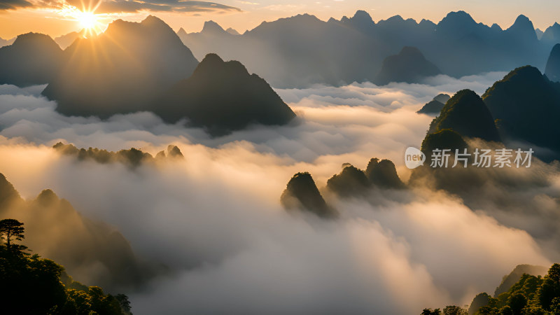
[[[43,95],[66,116],[151,111],[212,135],[284,125],[295,117],[265,80],[215,54],[199,64],[171,27],[153,16],[139,23],[116,20],[99,36],[57,39],[72,38],[63,51],[49,36],[18,36],[0,48],[0,64],[9,70],[0,83],[48,84]]]

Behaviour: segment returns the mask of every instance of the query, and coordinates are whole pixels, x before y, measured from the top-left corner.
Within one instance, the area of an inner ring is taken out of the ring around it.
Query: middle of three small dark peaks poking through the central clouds
[[[362,195],[370,187],[364,172],[352,165],[343,165],[342,172],[327,181],[327,188],[341,197]]]

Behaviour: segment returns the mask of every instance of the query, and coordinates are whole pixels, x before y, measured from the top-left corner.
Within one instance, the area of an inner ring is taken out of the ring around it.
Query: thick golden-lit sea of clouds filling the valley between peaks
[[[118,228],[137,255],[169,267],[127,292],[134,314],[416,314],[462,306],[493,293],[515,265],[549,265],[557,254],[542,245],[547,237],[535,240],[491,211],[427,188],[371,202],[338,200],[323,187],[342,163],[363,169],[374,157],[393,160],[406,180],[404,151],[421,144],[432,119],[416,111],[440,92],[482,94],[504,74],[276,90],[297,113],[293,124],[216,139],[152,113],[61,116],[41,97],[44,86],[0,85],[0,172],[23,197],[51,188],[84,216]],[[174,144],[185,158],[130,169],[61,156],[51,148],[58,141],[152,154]],[[302,171],[339,220],[281,208],[282,190]],[[560,191],[553,182],[547,189]]]

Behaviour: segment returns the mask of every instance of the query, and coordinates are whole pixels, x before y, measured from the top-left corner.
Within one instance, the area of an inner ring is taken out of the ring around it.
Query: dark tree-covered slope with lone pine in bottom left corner
[[[1,314],[132,314],[126,295],[106,295],[102,288],[84,286],[73,281],[62,265],[13,244],[24,237],[23,230],[19,221],[0,221],[5,240],[0,244]]]

